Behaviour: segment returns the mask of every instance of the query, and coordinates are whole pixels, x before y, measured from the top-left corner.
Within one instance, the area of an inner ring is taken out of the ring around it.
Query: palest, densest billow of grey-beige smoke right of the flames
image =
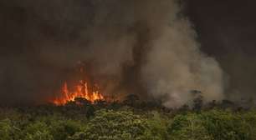
[[[142,76],[154,97],[166,97],[167,107],[191,102],[192,89],[205,101],[223,98],[223,72],[212,57],[200,52],[190,23],[177,19],[152,42]]]

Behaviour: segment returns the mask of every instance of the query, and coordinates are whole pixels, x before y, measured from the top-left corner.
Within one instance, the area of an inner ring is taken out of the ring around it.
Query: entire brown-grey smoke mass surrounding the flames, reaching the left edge
[[[159,99],[166,107],[223,99],[223,72],[200,51],[175,0],[1,3],[1,100],[52,96],[76,62],[89,62],[105,94]]]

